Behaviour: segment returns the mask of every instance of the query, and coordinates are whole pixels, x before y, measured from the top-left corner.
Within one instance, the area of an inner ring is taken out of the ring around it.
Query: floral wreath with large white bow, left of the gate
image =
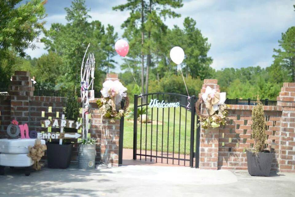
[[[114,119],[121,119],[121,117],[128,115],[129,98],[126,91],[127,88],[118,80],[108,80],[103,83],[103,88],[100,90],[102,98],[98,99],[96,103],[104,118],[110,118],[111,122],[115,122]],[[121,103],[122,98],[125,98],[125,105],[117,111],[116,106]]]

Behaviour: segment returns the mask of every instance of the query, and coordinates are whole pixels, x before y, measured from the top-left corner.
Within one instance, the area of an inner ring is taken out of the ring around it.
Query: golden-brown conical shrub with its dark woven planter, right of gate
[[[251,176],[269,176],[273,153],[265,150],[265,117],[263,105],[257,96],[257,105],[252,110],[252,136],[254,148],[246,150],[248,172]]]

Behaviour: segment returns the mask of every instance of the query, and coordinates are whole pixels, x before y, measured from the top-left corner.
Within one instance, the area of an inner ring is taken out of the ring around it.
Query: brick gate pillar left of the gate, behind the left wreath
[[[118,74],[107,74],[105,81],[107,80],[118,80]],[[111,119],[102,118],[98,109],[93,108],[90,128],[91,137],[98,139],[96,162],[103,162],[108,166],[118,166],[120,120],[115,120],[114,123],[111,123]]]

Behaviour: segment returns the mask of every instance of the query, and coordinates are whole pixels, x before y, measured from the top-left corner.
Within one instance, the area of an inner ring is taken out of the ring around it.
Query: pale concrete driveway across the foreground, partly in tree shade
[[[0,196],[294,196],[295,174],[251,177],[246,171],[190,167],[121,166],[78,170],[43,168],[25,177],[6,168]]]

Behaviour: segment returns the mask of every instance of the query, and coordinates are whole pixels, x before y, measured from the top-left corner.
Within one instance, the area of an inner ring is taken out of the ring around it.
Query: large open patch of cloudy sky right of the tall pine
[[[211,43],[213,68],[270,66],[273,48],[281,32],[295,22],[294,1],[190,1],[178,9],[181,18],[168,19],[168,26],[189,16]]]

